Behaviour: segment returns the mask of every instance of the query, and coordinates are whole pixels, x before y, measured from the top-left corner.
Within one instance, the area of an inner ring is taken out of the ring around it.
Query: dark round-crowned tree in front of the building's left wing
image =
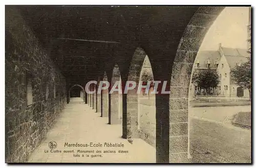
[[[220,83],[220,78],[216,70],[196,70],[192,82],[209,93],[208,88],[216,88]]]

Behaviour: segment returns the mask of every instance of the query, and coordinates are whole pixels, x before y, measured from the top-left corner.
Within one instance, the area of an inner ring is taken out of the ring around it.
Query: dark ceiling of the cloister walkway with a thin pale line
[[[115,59],[116,50],[148,37],[159,43],[167,34],[180,38],[198,7],[172,6],[17,6],[55,65],[70,80],[82,83]],[[189,15],[182,15],[189,14]],[[167,17],[164,17],[167,16]],[[177,23],[177,24],[174,24]],[[159,29],[159,27],[166,27]],[[182,28],[182,29],[180,29]],[[168,30],[169,29],[169,30]],[[172,31],[175,30],[176,32]],[[179,36],[176,35],[179,33]],[[76,40],[74,40],[76,39]],[[79,40],[80,39],[80,40]],[[87,40],[87,41],[84,41]],[[163,40],[163,41],[162,41]],[[132,55],[131,55],[132,57]],[[85,79],[87,78],[87,79]],[[76,79],[76,80],[75,80]]]

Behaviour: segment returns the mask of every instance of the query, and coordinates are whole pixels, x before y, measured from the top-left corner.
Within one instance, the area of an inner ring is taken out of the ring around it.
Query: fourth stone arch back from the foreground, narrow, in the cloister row
[[[108,81],[108,76],[104,71],[103,81]],[[101,117],[109,117],[109,89],[101,91]]]

